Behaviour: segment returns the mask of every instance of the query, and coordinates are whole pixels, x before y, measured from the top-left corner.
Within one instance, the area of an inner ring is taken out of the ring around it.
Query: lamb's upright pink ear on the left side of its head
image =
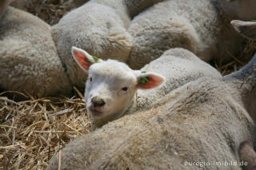
[[[90,65],[93,65],[96,62],[102,62],[102,59],[91,56],[85,50],[79,49],[75,46],[72,47],[71,53],[74,57],[74,61],[76,61],[78,65],[86,72],[89,70]]]

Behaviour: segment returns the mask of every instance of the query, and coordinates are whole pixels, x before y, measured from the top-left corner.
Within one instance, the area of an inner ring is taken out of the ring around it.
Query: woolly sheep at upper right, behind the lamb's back
[[[226,62],[230,53],[241,52],[243,42],[232,30],[230,20],[249,16],[250,19],[256,18],[255,7],[254,0],[159,2],[130,22],[128,32],[134,38],[134,47],[128,64],[133,69],[140,69],[166,49],[174,47],[189,49],[207,62],[214,58]],[[238,11],[238,14],[229,9]]]

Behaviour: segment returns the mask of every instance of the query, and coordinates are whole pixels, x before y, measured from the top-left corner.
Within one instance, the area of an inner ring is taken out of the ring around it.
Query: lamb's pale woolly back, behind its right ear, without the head
[[[141,71],[159,73],[166,77],[166,81],[156,89],[138,89],[134,104],[127,111],[128,113],[153,107],[155,101],[160,100],[161,97],[200,77],[222,77],[217,69],[202,61],[194,53],[182,48],[167,50],[161,57],[145,65]]]

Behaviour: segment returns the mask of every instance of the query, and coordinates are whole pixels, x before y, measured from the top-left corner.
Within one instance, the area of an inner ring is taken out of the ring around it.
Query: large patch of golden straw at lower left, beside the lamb
[[[10,92],[14,93],[14,92]],[[90,132],[83,97],[0,97],[0,169],[45,169],[70,140]]]

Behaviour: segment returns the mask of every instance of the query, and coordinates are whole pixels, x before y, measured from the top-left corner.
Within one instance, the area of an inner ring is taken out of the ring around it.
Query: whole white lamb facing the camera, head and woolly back
[[[93,129],[138,109],[152,107],[155,100],[188,81],[203,76],[221,77],[216,69],[186,49],[170,49],[141,70],[130,69],[120,61],[95,60],[77,47],[72,48],[72,54],[74,61],[89,74],[85,97]],[[165,77],[165,85],[154,89]]]

